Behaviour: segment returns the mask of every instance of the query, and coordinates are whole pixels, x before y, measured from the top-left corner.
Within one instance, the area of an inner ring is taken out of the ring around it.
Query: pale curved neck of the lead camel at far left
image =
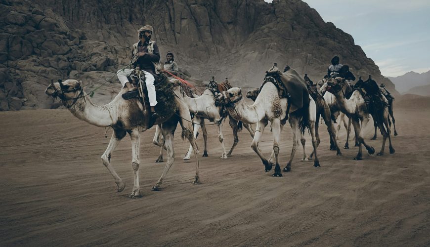
[[[112,102],[114,101],[115,99]],[[115,124],[114,120],[117,119],[117,114],[114,113],[115,111],[113,111],[111,107],[112,102],[104,106],[97,106],[91,102],[89,96],[85,96],[84,98],[78,99],[78,101],[69,108],[69,111],[78,119],[89,124],[98,127],[107,127]]]

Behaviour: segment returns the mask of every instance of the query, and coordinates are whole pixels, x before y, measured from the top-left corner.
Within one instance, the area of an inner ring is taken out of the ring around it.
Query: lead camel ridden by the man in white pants
[[[176,87],[177,88],[177,87]],[[141,197],[139,186],[139,146],[140,133],[151,127],[149,123],[149,104],[144,109],[141,102],[135,99],[124,100],[121,95],[127,92],[127,87],[124,87],[119,94],[108,104],[104,106],[94,105],[90,97],[84,93],[82,82],[76,80],[66,80],[64,82],[51,82],[45,90],[47,95],[59,97],[63,105],[77,118],[98,127],[112,127],[113,133],[106,151],[101,156],[103,165],[109,170],[114,177],[114,181],[118,186],[118,192],[124,190],[126,183],[116,173],[110,159],[112,152],[118,146],[118,143],[129,133],[131,139],[132,160],[134,185],[129,198]],[[168,161],[164,171],[158,182],[152,187],[152,190],[161,190],[161,185],[167,172],[173,165],[173,134],[176,125],[179,122],[182,127],[182,137],[186,137],[193,146],[196,156],[196,175],[193,181],[194,184],[199,183],[199,161],[197,158],[198,149],[194,136],[191,134],[193,126],[189,109],[181,100],[180,96],[175,92],[174,101],[177,105],[177,111],[171,116],[158,118],[155,124],[161,124],[161,131],[165,137],[165,146],[168,153]],[[183,121],[186,120],[186,121]],[[189,122],[188,122],[189,121]]]

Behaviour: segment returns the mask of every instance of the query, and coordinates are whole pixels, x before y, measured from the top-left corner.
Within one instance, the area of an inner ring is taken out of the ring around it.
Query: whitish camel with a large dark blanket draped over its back
[[[295,73],[297,74],[297,72]],[[297,77],[300,78],[298,74]],[[282,176],[279,165],[279,138],[280,132],[286,123],[288,102],[286,98],[279,97],[278,88],[271,82],[271,80],[274,80],[272,77],[266,77],[264,80],[265,83],[253,105],[245,103],[243,100],[242,89],[239,87],[233,87],[225,92],[219,93],[217,104],[224,105],[233,118],[240,119],[244,123],[257,124],[256,134],[254,135],[254,139],[251,143],[251,148],[261,159],[266,172],[272,169],[273,163],[269,162],[262,155],[258,147],[258,143],[264,132],[264,128],[269,121],[271,122],[271,130],[273,134],[272,154],[274,154],[275,157],[275,172],[273,176]],[[303,132],[305,127],[308,127],[312,136],[312,146],[315,154],[314,166],[320,166],[316,155],[316,138],[314,132],[316,116],[315,102],[308,94],[306,96],[309,97],[308,105],[304,105],[302,108],[288,113],[288,121],[293,132],[293,150],[291,152],[289,162],[284,167],[284,171],[291,170],[291,164],[298,145],[298,132]]]

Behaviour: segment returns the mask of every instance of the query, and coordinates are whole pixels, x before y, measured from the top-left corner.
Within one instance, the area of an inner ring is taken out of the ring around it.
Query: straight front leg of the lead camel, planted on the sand
[[[140,129],[132,129],[130,134],[131,138],[131,154],[132,161],[131,167],[133,168],[134,175],[134,185],[129,198],[139,198],[140,195],[140,185],[139,185],[139,151],[140,151]]]

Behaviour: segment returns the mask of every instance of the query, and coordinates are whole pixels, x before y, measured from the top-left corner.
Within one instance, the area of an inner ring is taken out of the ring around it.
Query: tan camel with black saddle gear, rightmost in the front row
[[[359,143],[358,154],[356,157],[354,157],[354,160],[362,160],[363,145],[366,147],[366,150],[369,154],[374,154],[375,149],[372,146],[367,145],[363,138],[363,129],[369,122],[370,113],[360,91],[359,90],[353,91],[350,98],[346,99],[345,92],[344,92],[346,83],[343,78],[340,78],[340,77],[331,78],[327,81],[327,83],[330,87],[328,90],[332,92],[333,95],[335,95],[336,97],[336,105],[351,120],[352,125],[354,126],[355,136],[357,137],[357,140]],[[384,139],[382,142],[382,148],[381,148],[381,151],[377,154],[378,156],[384,155],[384,148],[385,148],[385,143],[387,138],[389,140],[390,154],[393,154],[395,152],[391,144],[390,129],[389,129],[388,120],[387,120],[388,111],[386,110],[387,109],[382,109],[375,114],[376,116],[372,116],[373,118],[380,120],[378,121],[378,126],[381,130],[381,133],[384,136]]]

